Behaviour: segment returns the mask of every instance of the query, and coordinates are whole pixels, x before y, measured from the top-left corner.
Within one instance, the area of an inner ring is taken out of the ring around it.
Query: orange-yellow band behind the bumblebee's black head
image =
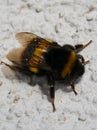
[[[65,78],[67,75],[71,73],[72,67],[74,65],[76,59],[76,54],[74,51],[71,51],[69,59],[67,61],[67,64],[64,66],[62,72],[61,72],[61,77]]]

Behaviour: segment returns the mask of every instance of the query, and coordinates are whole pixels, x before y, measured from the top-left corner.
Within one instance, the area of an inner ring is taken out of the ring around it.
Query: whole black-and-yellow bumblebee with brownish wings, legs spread
[[[57,42],[43,39],[33,33],[20,32],[16,34],[16,39],[21,43],[21,47],[8,53],[7,58],[14,63],[14,67],[6,64],[11,69],[16,68],[19,71],[28,72],[32,75],[45,75],[50,88],[50,98],[55,108],[55,81],[68,81],[75,95],[74,83],[85,72],[84,57],[79,54],[87,47],[87,44],[63,45]]]

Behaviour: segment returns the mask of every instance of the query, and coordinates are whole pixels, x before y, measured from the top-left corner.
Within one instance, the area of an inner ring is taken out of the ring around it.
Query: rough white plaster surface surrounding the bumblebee
[[[29,31],[60,45],[93,43],[81,52],[90,63],[76,84],[78,96],[56,84],[56,112],[44,78],[30,78],[0,65],[0,130],[97,130],[97,0],[0,0],[0,60]],[[40,84],[40,85],[39,85]]]

